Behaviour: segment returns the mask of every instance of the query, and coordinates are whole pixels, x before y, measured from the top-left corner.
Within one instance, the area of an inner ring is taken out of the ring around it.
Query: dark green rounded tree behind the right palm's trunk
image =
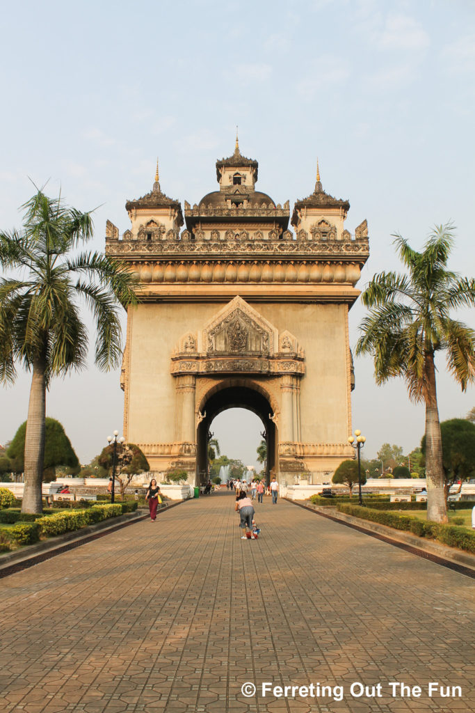
[[[442,465],[446,497],[451,486],[475,473],[475,424],[466,419],[449,419],[440,424],[442,436]],[[422,436],[421,450],[426,453],[426,438]]]

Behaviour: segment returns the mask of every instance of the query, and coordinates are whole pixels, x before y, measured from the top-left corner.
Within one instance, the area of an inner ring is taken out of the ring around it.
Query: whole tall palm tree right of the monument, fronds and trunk
[[[447,354],[447,366],[462,390],[475,379],[475,332],[451,319],[451,309],[475,305],[475,280],[447,270],[453,245],[452,225],[434,227],[422,252],[394,235],[407,274],[381,272],[362,294],[370,312],[360,324],[357,354],[372,354],[376,383],[402,376],[409,398],[426,411],[427,518],[447,522],[442,440],[437,408],[435,355]]]

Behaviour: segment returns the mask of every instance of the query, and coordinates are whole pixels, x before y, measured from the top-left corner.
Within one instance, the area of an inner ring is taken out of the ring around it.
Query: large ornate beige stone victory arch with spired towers
[[[122,238],[107,223],[106,252],[140,278],[122,362],[125,438],[152,470],[199,483],[213,419],[239,406],[263,423],[268,475],[324,482],[353,457],[348,310],[367,223],[344,229],[350,205],[325,193],[318,169],[291,217],[288,201],[256,191],[258,163],[237,139],[216,178],[219,190],[185,201],[183,215],[157,167],[150,193],[125,205]]]

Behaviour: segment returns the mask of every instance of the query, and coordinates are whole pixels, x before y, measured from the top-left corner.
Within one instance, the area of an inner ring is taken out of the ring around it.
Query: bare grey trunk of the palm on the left
[[[33,361],[28,421],[25,436],[25,488],[21,511],[41,513],[41,483],[45,453],[46,380],[45,361]]]

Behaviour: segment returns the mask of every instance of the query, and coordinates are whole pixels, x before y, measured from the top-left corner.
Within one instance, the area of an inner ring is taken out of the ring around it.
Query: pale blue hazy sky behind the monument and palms
[[[313,0],[225,4],[24,1],[4,4],[1,53],[0,227],[19,226],[33,193],[60,189],[105,220],[129,227],[125,200],[152,188],[198,202],[216,190],[216,158],[259,160],[259,190],[291,204],[315,183],[348,198],[346,227],[367,218],[375,272],[397,268],[393,232],[422,247],[434,223],[457,227],[451,267],[474,275],[475,3],[473,0]],[[364,313],[350,312],[354,345]],[[474,314],[461,315],[474,326]],[[441,419],[465,416],[439,357]],[[384,441],[409,451],[424,409],[404,384],[378,389],[369,359],[355,361],[353,425],[366,455]],[[0,442],[26,419],[29,377],[0,391]],[[119,375],[93,366],[56,380],[47,412],[80,460],[122,428]],[[259,419],[227,411],[212,430],[231,457],[254,463]],[[236,438],[236,433],[240,434]]]

